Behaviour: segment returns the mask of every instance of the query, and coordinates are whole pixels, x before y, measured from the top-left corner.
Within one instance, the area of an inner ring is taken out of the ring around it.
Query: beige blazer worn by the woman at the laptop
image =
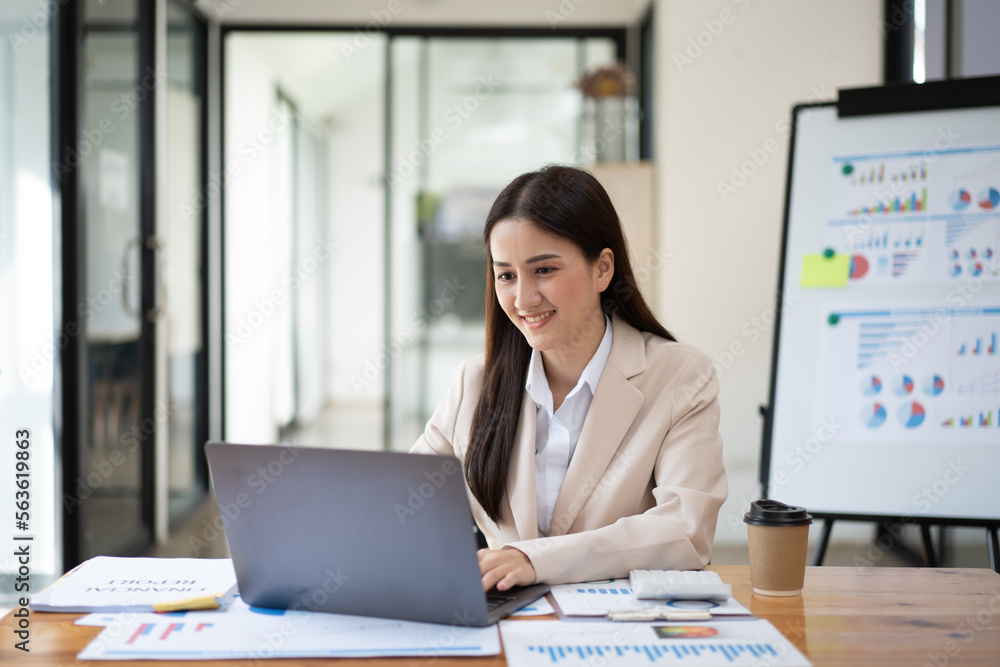
[[[634,569],[699,569],[712,555],[728,485],[719,435],[719,383],[690,345],[612,321],[611,356],[539,538],[534,401],[524,392],[505,511],[490,520],[469,494],[491,548],[520,549],[539,582],[628,576]],[[464,461],[483,386],[483,358],[459,367],[411,451]]]

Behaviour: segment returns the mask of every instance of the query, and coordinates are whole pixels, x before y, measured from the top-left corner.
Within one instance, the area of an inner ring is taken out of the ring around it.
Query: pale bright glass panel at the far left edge
[[[32,537],[23,543],[31,548],[32,586],[40,588],[46,575],[60,573],[62,562],[53,418],[69,332],[59,328],[59,235],[52,205],[55,33],[51,17],[38,11],[32,0],[0,3],[0,454],[7,466],[0,498],[17,515],[8,514],[0,527],[7,546],[0,555],[0,607],[14,606],[12,600],[24,595],[15,591],[23,564],[14,553],[22,543],[14,538]]]

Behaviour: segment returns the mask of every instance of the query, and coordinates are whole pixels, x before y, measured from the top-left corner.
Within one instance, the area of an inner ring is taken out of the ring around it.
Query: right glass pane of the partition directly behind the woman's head
[[[387,446],[419,437],[458,364],[483,351],[483,222],[515,176],[593,155],[584,71],[610,38],[390,40]]]

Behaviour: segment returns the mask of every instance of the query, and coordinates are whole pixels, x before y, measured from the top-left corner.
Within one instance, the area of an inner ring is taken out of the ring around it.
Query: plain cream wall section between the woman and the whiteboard
[[[730,497],[718,544],[745,541],[760,497],[789,111],[881,82],[882,4],[656,2],[658,243],[670,254],[658,315],[719,372]],[[741,168],[752,175],[730,183]]]

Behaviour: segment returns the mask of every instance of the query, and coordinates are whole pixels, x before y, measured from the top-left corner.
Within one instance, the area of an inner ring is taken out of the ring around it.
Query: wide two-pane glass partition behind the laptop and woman
[[[226,438],[408,449],[483,349],[483,221],[588,165],[624,31],[224,32]]]

